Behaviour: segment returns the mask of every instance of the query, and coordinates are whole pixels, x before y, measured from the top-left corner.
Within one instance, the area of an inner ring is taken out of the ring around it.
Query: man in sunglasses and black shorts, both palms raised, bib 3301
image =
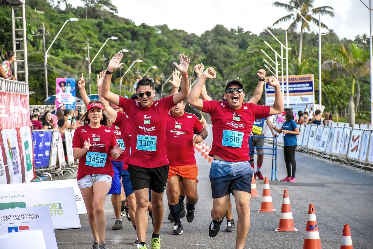
[[[169,169],[166,156],[166,119],[171,108],[189,94],[188,66],[190,59],[180,54],[180,64],[173,63],[182,75],[183,84],[179,93],[153,101],[154,82],[146,77],[138,81],[136,93],[139,102],[136,102],[110,92],[112,73],[123,65],[120,62],[122,58],[123,54],[117,53],[110,60],[101,96],[110,103],[122,107],[129,116],[128,120],[131,124],[133,138],[131,139],[128,172],[136,197],[135,223],[139,241],[137,248],[147,248],[145,240],[148,228],[148,190],[151,189],[154,221],[151,249],[160,249],[159,232],[163,217],[163,192]]]

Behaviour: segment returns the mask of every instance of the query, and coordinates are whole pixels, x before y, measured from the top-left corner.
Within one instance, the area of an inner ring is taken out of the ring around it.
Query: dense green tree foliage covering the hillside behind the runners
[[[62,30],[59,38],[51,47],[48,53],[48,90],[52,94],[55,91],[56,77],[78,78],[83,72],[88,78],[87,42],[90,47],[90,58],[97,53],[104,41],[116,36],[117,41],[109,40],[101,53],[92,64],[92,79],[94,83],[95,74],[103,69],[102,56],[107,59],[115,52],[128,49],[123,57],[122,74],[129,65],[136,60],[143,60],[142,63],[135,63],[126,74],[122,95],[134,91],[132,84],[137,77],[137,71],[142,75],[150,66],[157,66],[151,69],[150,76],[156,81],[156,90],[160,93],[161,85],[174,70],[173,61],[177,61],[179,53],[185,53],[191,57],[191,64],[203,63],[205,68],[213,66],[218,72],[217,78],[207,81],[207,91],[213,98],[220,99],[224,85],[227,81],[239,77],[245,85],[247,96],[250,96],[257,84],[256,72],[263,68],[264,55],[260,49],[270,53],[264,45],[267,41],[272,47],[279,50],[279,44],[265,30],[259,35],[245,31],[241,27],[227,29],[222,25],[216,25],[213,29],[205,31],[202,35],[188,34],[179,29],[169,29],[167,25],[151,27],[147,24],[135,25],[129,19],[116,15],[116,8],[110,0],[83,1],[84,7],[72,8],[66,1],[26,1],[26,17],[28,22],[28,65],[29,65],[29,89],[35,94],[30,95],[30,103],[43,103],[45,99],[44,66],[43,66],[43,40],[38,34],[37,28],[42,23],[46,26],[49,35],[46,36],[47,47],[59,31],[62,24],[71,17],[79,18],[78,22],[68,22]],[[66,5],[67,4],[67,5]],[[106,5],[105,5],[106,4]],[[87,16],[87,19],[86,19]],[[273,20],[276,21],[276,20]],[[0,49],[3,53],[12,49],[10,43],[10,8],[0,7]],[[264,27],[263,27],[264,28]],[[331,27],[330,27],[331,28]],[[285,41],[285,30],[270,28],[281,41]],[[34,33],[32,33],[34,32]],[[364,38],[363,38],[364,37]],[[288,34],[289,46],[289,73],[291,74],[314,74],[315,96],[318,98],[318,36],[315,33],[303,34],[302,62],[298,63],[298,50],[300,34],[292,31]],[[356,37],[355,41],[339,39],[331,29],[322,37],[322,60],[333,60],[344,64],[343,57],[336,53],[336,47],[357,46],[364,55],[369,53],[369,36]],[[271,53],[272,55],[272,53]],[[101,60],[100,60],[101,59]],[[365,63],[369,63],[369,60]],[[189,75],[194,76],[192,66],[189,67]],[[267,70],[268,71],[268,70]],[[114,73],[112,88],[119,93],[120,72]],[[344,111],[348,106],[349,97],[352,91],[353,77],[351,74],[336,71],[323,71],[323,105],[333,111]],[[369,72],[354,75],[361,87],[359,110],[368,112],[369,116]],[[193,80],[192,80],[193,82]],[[357,87],[355,87],[357,88]],[[164,91],[168,92],[170,85],[166,83]],[[355,94],[357,90],[355,89]],[[95,84],[92,85],[92,93],[97,93]],[[264,93],[263,93],[264,97]]]

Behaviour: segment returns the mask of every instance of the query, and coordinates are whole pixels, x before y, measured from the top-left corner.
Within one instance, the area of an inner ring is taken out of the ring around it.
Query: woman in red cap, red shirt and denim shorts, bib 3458
[[[104,203],[114,174],[109,158],[118,158],[123,149],[101,100],[92,100],[80,121],[83,125],[75,130],[72,143],[74,159],[79,159],[78,187],[87,208],[93,249],[106,249]]]

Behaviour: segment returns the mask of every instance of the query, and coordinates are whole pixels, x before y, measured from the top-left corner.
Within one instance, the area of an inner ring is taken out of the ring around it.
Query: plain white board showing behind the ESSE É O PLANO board
[[[73,187],[75,194],[76,207],[78,208],[79,214],[87,214],[87,209],[85,209],[84,201],[80,189],[78,187],[78,181],[76,179],[67,180],[54,180],[54,181],[35,181],[32,183],[15,183],[8,185],[0,185],[1,192],[11,192],[11,191],[23,191],[23,190],[43,190],[43,189],[56,189],[56,188],[66,188]]]

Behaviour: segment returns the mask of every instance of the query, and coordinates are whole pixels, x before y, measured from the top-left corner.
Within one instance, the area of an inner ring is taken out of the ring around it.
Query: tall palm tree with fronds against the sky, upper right
[[[303,18],[297,13],[294,14],[293,12],[295,10],[298,10],[302,16],[308,21],[312,22],[313,24],[319,26],[319,20],[313,17],[313,15],[321,14],[322,16],[334,16],[334,13],[332,10],[334,10],[330,6],[322,6],[322,7],[316,7],[313,8],[315,0],[290,0],[289,4],[286,3],[280,3],[280,2],[274,2],[273,6],[275,7],[281,7],[283,9],[286,9],[291,14],[287,16],[283,16],[282,18],[278,19],[273,25],[279,24],[281,22],[286,22],[289,20],[293,20],[293,22],[290,24],[288,31],[293,32],[298,27],[298,23],[301,23],[301,33],[300,33],[300,41],[299,41],[299,53],[298,53],[298,63],[301,64],[302,59],[302,44],[303,44],[303,30],[307,29],[310,30],[310,26],[303,20]],[[321,27],[326,28],[329,30],[329,28],[321,22]]]

